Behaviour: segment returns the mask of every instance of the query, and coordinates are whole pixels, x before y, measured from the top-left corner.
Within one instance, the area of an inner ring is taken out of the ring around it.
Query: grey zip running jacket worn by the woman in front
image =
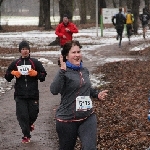
[[[57,120],[75,121],[82,120],[93,113],[93,109],[76,111],[76,98],[89,96],[97,98],[99,91],[91,87],[89,71],[83,67],[79,71],[67,68],[59,70],[50,85],[53,95],[61,94],[61,103],[56,112]]]

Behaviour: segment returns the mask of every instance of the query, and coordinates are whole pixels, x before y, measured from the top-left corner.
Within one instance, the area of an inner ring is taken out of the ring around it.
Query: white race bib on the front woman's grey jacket
[[[78,96],[76,98],[76,111],[87,111],[92,108],[92,100],[89,96]]]

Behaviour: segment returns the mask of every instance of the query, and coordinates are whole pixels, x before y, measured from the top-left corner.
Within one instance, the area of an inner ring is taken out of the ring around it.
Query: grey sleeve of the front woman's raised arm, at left
[[[61,93],[64,83],[65,83],[65,70],[59,70],[50,85],[50,91],[53,95]]]

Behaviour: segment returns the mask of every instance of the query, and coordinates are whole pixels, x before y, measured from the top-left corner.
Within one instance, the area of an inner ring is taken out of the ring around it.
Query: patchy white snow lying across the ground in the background
[[[8,18],[7,18],[8,19]],[[8,23],[9,20],[5,18],[6,23]],[[35,18],[23,18],[23,20],[20,18],[19,21],[15,21],[11,18],[11,23],[13,25],[20,25],[24,19],[24,25],[35,25],[37,24]],[[32,21],[31,21],[32,20]],[[4,20],[3,20],[4,21]],[[18,23],[18,24],[17,24]],[[147,35],[150,33],[148,30]],[[49,60],[47,57],[59,57],[60,55],[60,47],[59,46],[52,46],[54,47],[54,51],[40,51],[40,48],[50,48],[48,46],[49,43],[55,40],[57,36],[55,35],[55,31],[25,31],[25,32],[7,32],[7,33],[0,33],[0,47],[4,48],[18,48],[18,44],[22,40],[27,40],[30,42],[31,47],[31,57],[38,57],[38,60],[41,61],[44,65],[54,65],[51,60]],[[79,33],[73,34],[73,39],[80,41],[82,47],[82,53],[85,58],[87,58],[89,61],[93,60],[99,60],[96,63],[97,64],[104,64],[108,62],[116,62],[116,61],[130,61],[133,60],[132,58],[127,57],[110,57],[106,58],[102,55],[98,56],[92,56],[88,53],[88,51],[92,51],[95,49],[98,49],[102,46],[106,45],[112,45],[118,43],[116,40],[116,30],[115,28],[105,28],[103,30],[103,37],[101,37],[101,30],[98,29],[98,36],[97,31],[95,27],[88,28],[88,29],[82,29],[79,30]],[[131,37],[131,43],[132,41],[138,41],[143,40],[143,44],[139,46],[135,46],[134,48],[131,48],[130,51],[141,51],[145,49],[146,47],[150,46],[150,43],[144,42],[142,36],[142,30],[139,29],[139,35],[135,36],[133,35]],[[147,36],[146,40],[149,40],[149,37]],[[128,41],[128,38],[126,36],[126,32],[123,33],[123,40],[122,42]],[[38,47],[38,52],[32,52],[32,47]],[[16,59],[19,55],[13,56],[13,54],[0,56],[1,59]],[[6,68],[4,68],[6,69]],[[103,81],[101,81],[102,75],[91,75],[91,82],[93,86],[100,86],[101,84],[106,84]],[[8,83],[4,78],[0,78],[0,94],[5,93],[6,90],[9,90],[12,85],[14,84],[14,81],[12,83]]]

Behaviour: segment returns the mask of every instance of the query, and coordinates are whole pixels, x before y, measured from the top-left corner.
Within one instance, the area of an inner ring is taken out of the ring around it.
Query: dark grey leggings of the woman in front
[[[59,150],[74,150],[78,136],[82,143],[82,150],[96,150],[97,119],[95,114],[79,122],[56,121],[56,131],[59,137]]]

